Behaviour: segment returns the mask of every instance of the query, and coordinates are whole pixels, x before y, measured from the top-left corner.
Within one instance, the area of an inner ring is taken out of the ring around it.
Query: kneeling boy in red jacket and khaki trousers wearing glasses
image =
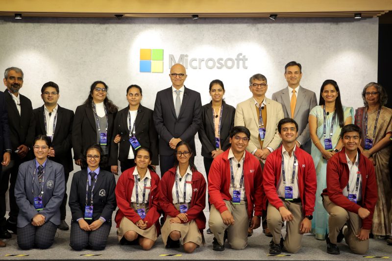
[[[230,130],[231,146],[218,155],[208,174],[209,227],[214,234],[213,250],[224,250],[224,233],[231,248],[244,249],[250,228],[260,227],[263,210],[263,171],[259,160],[245,151],[250,132],[246,127]],[[253,216],[254,211],[254,216]]]

